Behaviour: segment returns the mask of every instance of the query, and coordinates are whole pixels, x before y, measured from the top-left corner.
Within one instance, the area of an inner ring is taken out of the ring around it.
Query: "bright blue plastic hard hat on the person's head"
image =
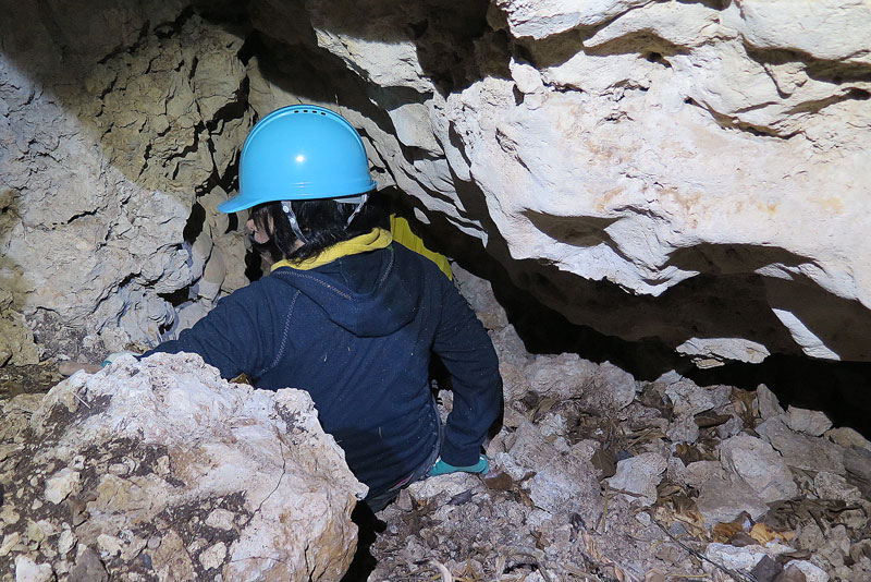
[[[272,111],[248,134],[238,167],[238,194],[222,213],[265,202],[344,198],[376,183],[357,130],[345,118],[314,105]]]

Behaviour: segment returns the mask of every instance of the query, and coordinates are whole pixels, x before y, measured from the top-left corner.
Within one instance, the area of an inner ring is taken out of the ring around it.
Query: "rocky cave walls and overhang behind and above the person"
[[[4,3],[22,345],[22,316],[64,353],[154,342],[244,284],[214,204],[253,122],[316,102],[445,251],[575,323],[702,366],[871,355],[867,2]]]

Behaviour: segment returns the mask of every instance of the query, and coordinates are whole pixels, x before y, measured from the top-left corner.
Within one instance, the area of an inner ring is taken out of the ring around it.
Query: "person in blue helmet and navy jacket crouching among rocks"
[[[155,352],[194,352],[224,378],[307,390],[379,511],[402,487],[450,472],[483,473],[481,445],[502,412],[487,331],[430,259],[394,244],[366,151],[341,116],[315,106],[273,111],[252,130],[240,192],[254,240],[280,260]],[[430,354],[452,377],[442,425]]]

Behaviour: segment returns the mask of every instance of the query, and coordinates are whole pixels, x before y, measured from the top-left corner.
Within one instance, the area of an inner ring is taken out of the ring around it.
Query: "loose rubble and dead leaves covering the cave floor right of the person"
[[[609,363],[528,354],[487,286],[457,278],[505,379],[491,472],[403,492],[379,514],[370,580],[430,580],[441,568],[503,582],[871,578],[861,435],[783,411],[765,386],[704,387],[676,373],[636,381]],[[440,397],[450,408],[450,392]]]

